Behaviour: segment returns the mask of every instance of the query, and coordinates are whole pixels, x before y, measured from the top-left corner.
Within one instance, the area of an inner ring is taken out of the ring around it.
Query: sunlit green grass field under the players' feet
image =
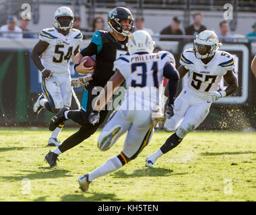
[[[64,129],[59,139],[73,132]],[[46,128],[0,129],[0,201],[256,201],[255,133],[193,132],[152,169],[146,157],[170,135],[155,132],[137,159],[94,180],[87,193],[77,177],[120,153],[124,136],[102,152],[96,132],[59,156],[61,168],[49,168],[50,134]]]

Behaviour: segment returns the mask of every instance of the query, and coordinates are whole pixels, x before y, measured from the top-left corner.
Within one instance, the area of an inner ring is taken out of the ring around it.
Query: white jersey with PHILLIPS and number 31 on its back
[[[119,70],[125,78],[129,103],[148,101],[150,108],[159,103],[166,62],[172,62],[175,66],[173,55],[166,51],[123,55],[115,60],[113,70]]]

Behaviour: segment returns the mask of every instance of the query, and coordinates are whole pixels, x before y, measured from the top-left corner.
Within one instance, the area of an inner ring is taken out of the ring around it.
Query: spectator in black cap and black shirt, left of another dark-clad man
[[[180,29],[181,26],[181,20],[178,19],[178,17],[173,17],[172,19],[172,23],[170,24],[170,26],[167,26],[166,28],[164,28],[160,34],[161,35],[183,35],[182,30]],[[160,40],[177,40],[176,38],[160,38]],[[181,39],[179,39],[178,41],[180,41]]]

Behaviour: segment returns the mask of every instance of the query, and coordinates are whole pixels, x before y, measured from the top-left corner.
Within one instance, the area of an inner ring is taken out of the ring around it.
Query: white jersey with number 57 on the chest
[[[221,50],[217,50],[212,60],[204,64],[189,48],[181,54],[180,63],[189,70],[186,89],[201,99],[206,99],[208,92],[218,91],[222,76],[234,69],[232,54]]]

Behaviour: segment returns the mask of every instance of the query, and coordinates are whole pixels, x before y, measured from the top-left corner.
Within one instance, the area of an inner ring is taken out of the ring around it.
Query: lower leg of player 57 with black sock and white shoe
[[[183,139],[180,138],[176,133],[172,134],[161,146],[160,149],[156,151],[156,153],[150,155],[146,159],[146,167],[154,167],[154,164],[156,163],[156,160],[164,155],[165,153],[168,153],[169,150],[172,150],[172,148],[175,148],[178,146]]]

